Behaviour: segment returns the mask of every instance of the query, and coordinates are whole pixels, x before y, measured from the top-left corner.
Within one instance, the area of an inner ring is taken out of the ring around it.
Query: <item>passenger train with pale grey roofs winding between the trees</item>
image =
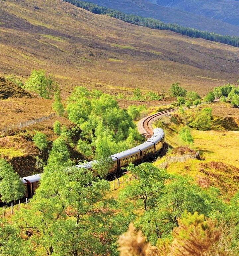
[[[129,163],[138,165],[145,161],[149,161],[156,158],[164,144],[165,135],[162,128],[154,128],[153,136],[146,140],[144,143],[135,146],[131,149],[119,152],[117,154],[111,155],[111,167],[109,169],[109,175],[119,174],[124,167]],[[97,164],[97,160],[93,160],[87,163],[75,165],[75,167],[85,168],[88,170],[93,170],[94,166]],[[93,170],[94,171],[94,170]],[[32,176],[27,176],[21,178],[21,181],[26,186],[26,198],[32,198],[35,190],[39,187],[41,174],[35,174]]]

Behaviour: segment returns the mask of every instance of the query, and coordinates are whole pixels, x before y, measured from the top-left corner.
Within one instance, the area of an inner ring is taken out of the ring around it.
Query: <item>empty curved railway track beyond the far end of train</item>
[[[162,112],[158,112],[156,114],[153,114],[151,116],[145,117],[144,119],[141,120],[139,123],[139,130],[140,132],[146,136],[146,137],[151,137],[153,135],[153,128],[151,126],[152,121],[156,120],[159,116],[164,116],[165,114],[174,112],[178,108],[175,109],[170,109],[170,110],[165,110]]]

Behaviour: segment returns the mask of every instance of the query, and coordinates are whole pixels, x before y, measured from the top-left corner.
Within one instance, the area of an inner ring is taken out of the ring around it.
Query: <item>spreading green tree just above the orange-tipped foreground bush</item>
[[[215,189],[203,191],[189,178],[173,179],[165,185],[164,193],[158,199],[157,211],[150,211],[141,219],[144,233],[155,244],[158,237],[170,235],[173,228],[179,226],[178,220],[185,211],[205,216],[213,211],[223,211],[225,206],[217,199],[218,193]]]

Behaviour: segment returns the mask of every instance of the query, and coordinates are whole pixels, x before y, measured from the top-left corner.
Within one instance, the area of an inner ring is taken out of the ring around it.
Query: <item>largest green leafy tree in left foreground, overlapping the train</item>
[[[46,171],[31,209],[24,209],[23,228],[35,227],[34,250],[41,255],[116,255],[119,231],[112,226],[112,200],[105,199],[109,188],[108,181],[84,168]]]

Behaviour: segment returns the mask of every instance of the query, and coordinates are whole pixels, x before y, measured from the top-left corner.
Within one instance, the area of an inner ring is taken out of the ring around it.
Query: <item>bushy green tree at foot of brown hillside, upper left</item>
[[[51,75],[45,76],[45,70],[33,70],[24,88],[36,92],[39,97],[49,98],[57,89],[57,84]]]

